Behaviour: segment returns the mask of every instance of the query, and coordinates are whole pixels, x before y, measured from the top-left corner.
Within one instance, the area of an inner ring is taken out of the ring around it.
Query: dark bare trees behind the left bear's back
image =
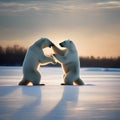
[[[22,65],[26,49],[14,45],[13,47],[6,47],[5,49],[0,46],[0,65],[13,66]]]

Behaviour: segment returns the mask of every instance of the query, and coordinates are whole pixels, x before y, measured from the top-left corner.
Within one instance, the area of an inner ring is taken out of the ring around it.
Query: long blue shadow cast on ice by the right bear
[[[74,107],[78,102],[78,96],[79,87],[63,87],[63,94],[61,99],[50,112],[41,118],[41,120],[74,119]]]

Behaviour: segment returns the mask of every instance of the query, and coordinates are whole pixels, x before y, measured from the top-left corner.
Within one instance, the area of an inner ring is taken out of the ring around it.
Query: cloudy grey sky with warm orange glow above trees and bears
[[[71,39],[79,56],[120,56],[120,0],[0,0],[0,46]]]

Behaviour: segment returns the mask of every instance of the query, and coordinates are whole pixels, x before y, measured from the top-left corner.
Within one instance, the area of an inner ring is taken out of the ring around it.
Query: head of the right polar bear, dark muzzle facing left
[[[65,48],[67,48],[67,49],[71,49],[71,50],[76,50],[76,47],[75,47],[75,45],[74,45],[74,43],[73,43],[73,41],[71,41],[71,40],[65,40],[65,41],[63,41],[63,42],[61,42],[61,43],[59,43],[59,45],[61,46],[61,47],[65,47]]]

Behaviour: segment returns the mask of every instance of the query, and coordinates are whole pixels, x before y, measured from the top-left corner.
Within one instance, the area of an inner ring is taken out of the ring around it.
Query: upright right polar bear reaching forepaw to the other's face
[[[65,49],[59,49],[55,45],[52,45],[52,49],[55,52],[53,56],[61,64],[64,71],[64,83],[62,85],[84,85],[84,82],[80,79],[80,61],[75,44],[71,40],[65,40],[59,44]]]

